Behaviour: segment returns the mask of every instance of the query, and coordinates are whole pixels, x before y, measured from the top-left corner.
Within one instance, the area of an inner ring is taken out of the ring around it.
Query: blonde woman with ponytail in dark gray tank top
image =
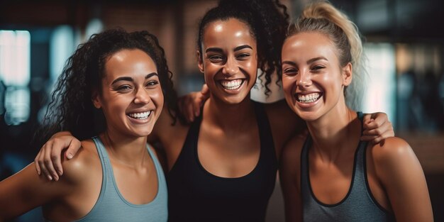
[[[395,137],[360,140],[362,113],[345,100],[362,89],[361,52],[357,28],[326,2],[308,6],[289,28],[284,94],[309,135],[295,135],[283,150],[287,221],[433,221],[426,179],[409,144]]]

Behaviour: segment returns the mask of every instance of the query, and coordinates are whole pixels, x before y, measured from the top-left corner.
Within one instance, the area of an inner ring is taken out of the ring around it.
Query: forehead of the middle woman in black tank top
[[[251,34],[250,27],[236,18],[226,21],[218,20],[209,23],[204,29],[202,45],[204,48],[218,45],[248,44],[252,47],[256,40]]]

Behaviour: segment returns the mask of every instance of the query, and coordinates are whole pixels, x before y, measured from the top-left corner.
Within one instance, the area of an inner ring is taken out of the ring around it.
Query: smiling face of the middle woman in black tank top
[[[235,18],[213,21],[206,26],[201,45],[199,70],[211,96],[239,104],[250,94],[257,75],[256,40],[250,28]]]

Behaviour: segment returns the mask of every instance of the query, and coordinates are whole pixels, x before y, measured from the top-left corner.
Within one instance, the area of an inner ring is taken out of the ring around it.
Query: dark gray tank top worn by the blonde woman
[[[358,113],[362,121],[362,113]],[[338,204],[323,204],[316,199],[309,178],[309,135],[301,152],[301,193],[304,206],[304,221],[395,221],[374,199],[367,180],[365,150],[367,142],[360,141],[355,152],[353,176],[350,189]]]

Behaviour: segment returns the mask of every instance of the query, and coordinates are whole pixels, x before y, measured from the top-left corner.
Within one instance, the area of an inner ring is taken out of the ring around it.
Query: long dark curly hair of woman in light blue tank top
[[[143,50],[155,62],[165,104],[175,122],[177,94],[173,89],[172,72],[168,69],[165,52],[157,38],[145,30],[128,33],[115,28],[91,35],[87,43],[79,45],[67,60],[45,114],[45,136],[70,131],[74,137],[84,140],[104,131],[104,114],[94,108],[91,93],[94,90],[101,92],[101,79],[109,57],[125,49]]]

